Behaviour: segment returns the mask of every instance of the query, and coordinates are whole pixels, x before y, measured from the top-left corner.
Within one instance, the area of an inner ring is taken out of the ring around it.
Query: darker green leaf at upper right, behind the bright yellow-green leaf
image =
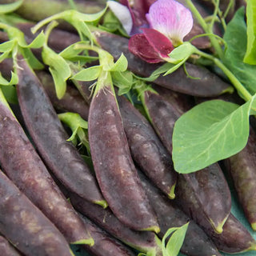
[[[222,61],[250,94],[255,94],[256,66],[243,62],[247,45],[244,14],[244,8],[240,8],[226,26],[224,39],[227,48]]]

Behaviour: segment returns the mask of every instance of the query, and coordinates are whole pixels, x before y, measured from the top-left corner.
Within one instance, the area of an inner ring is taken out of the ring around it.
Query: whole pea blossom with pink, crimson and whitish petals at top
[[[109,1],[109,6],[131,36],[129,50],[146,62],[165,62],[174,46],[193,26],[190,10],[175,0]],[[122,5],[122,14],[118,6]],[[125,8],[124,8],[125,7]],[[148,13],[147,13],[148,12]]]

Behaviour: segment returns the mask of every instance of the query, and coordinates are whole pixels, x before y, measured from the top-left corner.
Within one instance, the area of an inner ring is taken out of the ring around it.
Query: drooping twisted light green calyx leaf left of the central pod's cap
[[[49,66],[50,74],[54,78],[57,97],[62,98],[66,92],[66,80],[71,76],[70,66],[62,56],[46,45],[42,49],[42,60]]]

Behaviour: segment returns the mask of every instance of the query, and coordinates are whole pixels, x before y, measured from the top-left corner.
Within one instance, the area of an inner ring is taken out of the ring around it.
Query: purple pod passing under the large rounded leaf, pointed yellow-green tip
[[[176,122],[180,114],[173,104],[167,102],[154,91],[144,90],[141,98],[154,129],[171,154],[174,122]],[[206,214],[214,230],[221,233],[222,226],[230,214],[231,195],[226,179],[218,164],[211,165],[196,173],[181,175],[178,180],[180,179],[186,180],[186,182],[183,182],[186,186],[183,184],[179,187],[180,191],[184,190],[186,192],[183,191],[179,195],[179,201],[184,206],[183,209],[186,214],[197,216],[197,212],[190,213],[188,207],[190,198],[186,190],[190,190],[191,193],[195,194],[194,197],[196,198],[196,202],[190,202],[190,204],[197,203],[198,207],[202,208]],[[187,195],[187,198],[183,198],[185,195]],[[183,202],[183,199],[187,201]]]

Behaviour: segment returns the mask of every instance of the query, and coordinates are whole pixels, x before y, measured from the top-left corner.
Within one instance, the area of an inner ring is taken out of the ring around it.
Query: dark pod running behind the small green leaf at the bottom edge
[[[179,210],[173,201],[170,201],[160,190],[154,187],[142,173],[139,172],[139,174],[144,190],[146,190],[151,205],[158,216],[161,229],[159,236],[162,238],[171,227],[182,226],[190,222],[182,244],[182,254],[190,256],[220,256],[221,254],[218,253],[216,246],[214,246],[214,243],[207,237],[204,231],[184,214],[182,210]]]

